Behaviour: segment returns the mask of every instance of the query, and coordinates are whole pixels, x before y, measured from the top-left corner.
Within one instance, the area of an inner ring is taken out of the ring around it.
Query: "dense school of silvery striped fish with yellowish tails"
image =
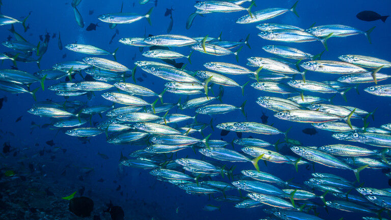
[[[80,2],[73,0],[71,6],[77,24],[83,28],[82,16],[76,8]],[[231,202],[236,208],[263,206],[265,215],[273,216],[270,219],[327,219],[327,216],[317,216],[314,211],[322,206],[364,213],[367,215],[364,219],[384,217],[386,211],[391,210],[391,189],[363,187],[360,185],[359,173],[364,169],[370,172],[367,170],[391,167],[391,123],[381,127],[368,127],[367,119],[373,117],[374,112],[349,106],[348,102],[346,105],[334,105],[332,98],[333,95],[340,94],[348,101],[346,93],[357,89],[359,84],[367,85],[364,91],[374,97],[391,97],[391,85],[382,84],[382,81],[391,75],[380,73],[386,72],[387,68],[391,67],[391,62],[360,54],[341,54],[339,60],[322,60],[323,52],[338,49],[329,48],[327,41],[333,40],[334,37],[364,35],[371,43],[370,34],[374,28],[362,31],[347,25],[329,24],[312,26],[305,30],[288,23],[263,23],[285,13],[298,16],[296,6],[300,3],[296,2],[291,8],[254,11],[252,8],[255,4],[261,5],[261,2],[198,2],[194,4],[195,12],[189,13],[186,22],[186,29],[190,29],[197,15],[205,22],[207,14],[210,13],[237,13],[242,16],[232,22],[251,23],[254,28],[260,30],[258,36],[247,36],[244,41],[172,34],[121,38],[119,42],[126,45],[123,46],[124,49],[127,46],[144,48],[141,55],[146,59],[138,59],[134,64],[117,62],[117,50],[107,51],[93,45],[71,43],[64,47],[86,54],[86,57],[80,61],[53,63],[50,69],[35,73],[1,69],[0,90],[14,94],[30,93],[36,100],[44,100],[47,90],[55,91],[58,96],[76,98],[67,99],[66,102],[39,101],[30,106],[27,112],[37,117],[58,118],[52,126],[63,129],[71,136],[106,135],[109,144],[143,146],[128,156],[121,155],[120,163],[131,168],[149,170],[157,180],[170,182],[173,187],[179,187],[188,194],[215,194],[216,201]],[[153,7],[149,10],[148,8],[145,14],[124,13],[121,9],[118,13],[99,15],[97,19],[108,23],[111,29],[116,25],[141,22],[144,18],[151,24]],[[5,11],[3,13],[7,14]],[[14,25],[22,23],[25,29],[27,18],[28,16],[24,20],[17,20],[0,15],[0,25],[12,25],[11,32],[16,39],[3,42],[11,52],[1,53],[0,59],[12,60],[15,66],[18,62],[33,62],[39,65],[45,51],[45,45],[33,45],[16,33]],[[266,39],[269,45],[251,48],[249,37]],[[325,51],[309,54],[295,48],[294,43],[311,41],[322,43]],[[291,44],[282,46],[278,45],[278,42]],[[240,53],[243,46],[253,50],[263,49],[270,53],[270,57],[248,57],[248,67],[240,63],[213,62],[213,56],[235,56],[238,61],[238,56],[245,57],[245,54]],[[188,53],[176,52],[176,47],[187,47]],[[62,48],[59,36],[59,49]],[[203,64],[205,69],[191,69],[190,58],[195,52],[209,56],[211,61]],[[39,59],[34,59],[32,54]],[[113,56],[113,59],[110,59],[110,56]],[[163,62],[184,58],[188,60],[188,65],[182,68]],[[136,85],[135,75],[141,72],[164,79],[165,89],[158,91],[157,85],[148,88]],[[306,75],[315,73],[337,76],[337,79],[306,79]],[[294,75],[300,79],[293,79]],[[233,76],[246,78],[247,82],[239,85],[232,79]],[[50,85],[45,86],[48,80],[51,83],[48,82]],[[219,87],[217,89],[212,85]],[[243,99],[240,106],[232,105],[229,99],[222,102],[224,90],[230,89],[228,87],[240,88],[232,89],[237,89],[238,97]],[[44,92],[36,97],[38,90]],[[259,92],[262,96],[257,100],[246,100],[247,92]],[[176,94],[180,101],[163,102],[166,93]],[[112,105],[87,105],[87,101],[93,96],[102,101],[108,100]],[[25,98],[19,96],[21,97]],[[202,114],[224,117],[222,114],[233,111],[240,111],[246,117],[246,102],[260,105],[259,112],[264,110],[263,108],[275,112],[274,117],[277,119],[308,123],[316,129],[330,131],[329,134],[341,143],[302,146],[299,141],[289,136],[289,129],[282,131],[278,124],[267,125],[261,121],[245,119],[235,122],[227,119],[220,124],[197,120]],[[193,114],[173,113],[184,109],[192,109]],[[91,124],[93,115],[99,115],[103,119],[97,126]],[[365,127],[354,126],[351,121],[355,119],[364,120]],[[214,133],[222,130],[248,132],[257,138],[245,137],[231,140],[232,142],[212,140],[209,138],[212,133],[204,135],[203,132],[209,126]],[[272,134],[280,135],[280,142],[268,143],[262,140],[263,135]],[[354,146],[354,143],[346,141],[361,143],[364,147]],[[289,146],[296,156],[280,153],[278,150],[282,144]],[[205,157],[176,158],[176,152],[180,150],[188,151],[189,155],[194,151]],[[277,173],[262,172],[259,160],[264,160],[265,163],[267,161],[269,166],[273,166],[273,163],[292,164],[296,171],[300,166],[318,163],[320,166],[329,167],[330,172],[314,172],[303,184],[294,183],[282,180]],[[228,168],[224,161],[250,162],[254,169],[235,170],[235,166]],[[355,179],[334,175],[333,169],[352,171]],[[391,172],[385,175],[391,178]],[[233,189],[241,189],[241,196],[237,193],[229,194]],[[204,209],[217,208],[207,205]]]

